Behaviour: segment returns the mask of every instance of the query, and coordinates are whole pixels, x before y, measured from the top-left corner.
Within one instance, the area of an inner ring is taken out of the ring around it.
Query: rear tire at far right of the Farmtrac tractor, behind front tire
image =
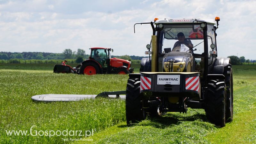
[[[227,87],[227,100],[226,100],[226,122],[233,121],[233,73],[232,65],[228,65],[228,70],[225,74],[226,87]]]

